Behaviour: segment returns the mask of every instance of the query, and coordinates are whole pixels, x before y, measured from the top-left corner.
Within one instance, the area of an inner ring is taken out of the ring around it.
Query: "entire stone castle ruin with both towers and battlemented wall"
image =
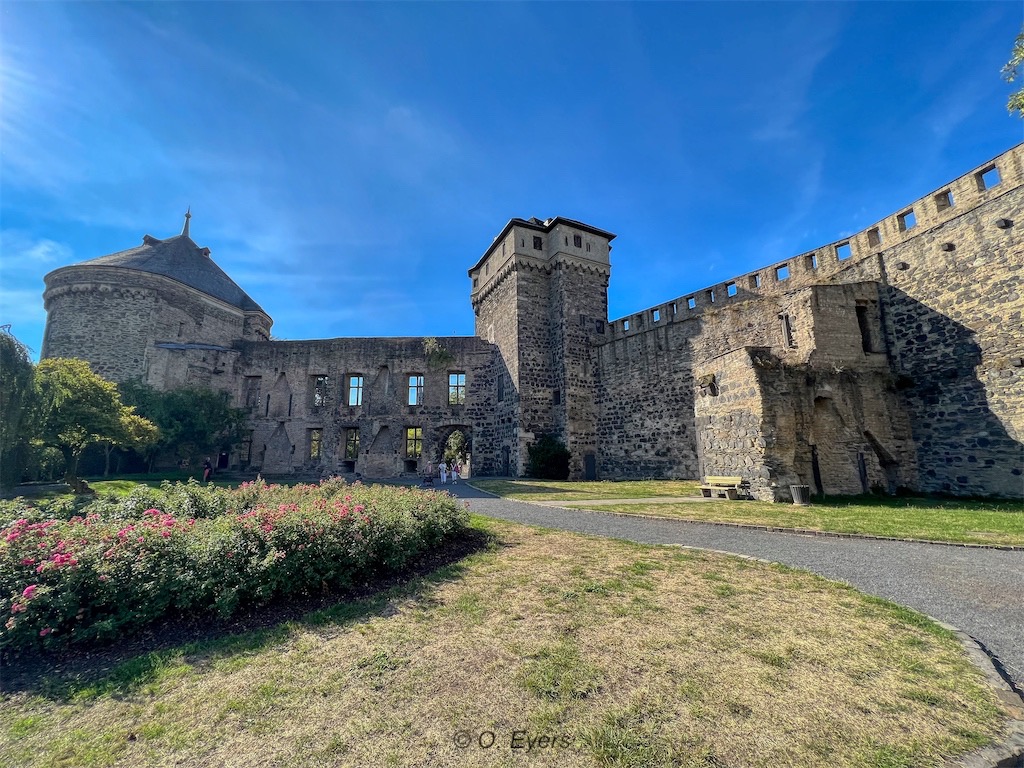
[[[512,219],[469,269],[473,337],[271,341],[181,234],[46,275],[43,356],[224,392],[264,473],[474,474],[541,435],[582,479],[741,475],[759,499],[1024,497],[1024,145],[870,228],[609,321],[610,232]]]

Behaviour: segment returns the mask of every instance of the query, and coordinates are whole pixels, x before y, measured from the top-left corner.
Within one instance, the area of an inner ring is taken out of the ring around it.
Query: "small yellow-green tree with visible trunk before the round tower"
[[[85,360],[51,357],[36,367],[34,438],[65,458],[65,481],[83,487],[78,460],[94,442],[134,446],[155,442],[155,424],[121,401],[117,386]]]

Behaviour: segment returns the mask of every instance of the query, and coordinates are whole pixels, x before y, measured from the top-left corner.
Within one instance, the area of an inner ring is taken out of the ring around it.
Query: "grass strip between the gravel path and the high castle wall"
[[[483,490],[521,501],[558,501],[587,509],[587,501],[699,496],[699,483],[677,480],[642,482],[552,482],[547,480],[474,481]],[[689,486],[690,493],[682,493]],[[630,490],[635,489],[635,496]],[[685,520],[739,522],[837,534],[867,534],[897,539],[926,539],[961,544],[1024,546],[1021,502],[953,501],[929,498],[829,498],[808,507],[753,501],[651,502],[602,504],[602,512]]]

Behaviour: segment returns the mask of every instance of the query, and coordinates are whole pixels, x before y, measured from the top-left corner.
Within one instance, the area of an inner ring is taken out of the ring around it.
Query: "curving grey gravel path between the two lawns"
[[[486,517],[642,544],[682,544],[762,557],[914,608],[954,625],[993,653],[1024,689],[1024,552],[779,534],[699,522],[583,512],[439,486]]]

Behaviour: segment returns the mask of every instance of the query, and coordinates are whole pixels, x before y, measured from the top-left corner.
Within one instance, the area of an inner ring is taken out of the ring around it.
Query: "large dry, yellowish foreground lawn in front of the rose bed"
[[[949,633],[844,585],[474,524],[487,549],[371,599],[5,676],[0,764],[920,767],[1001,722]]]

